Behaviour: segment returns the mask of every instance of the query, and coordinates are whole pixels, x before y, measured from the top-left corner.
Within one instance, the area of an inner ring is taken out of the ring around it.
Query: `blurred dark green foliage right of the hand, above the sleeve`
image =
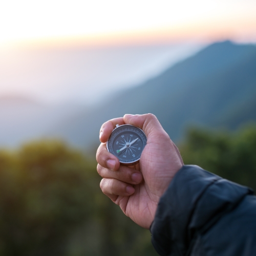
[[[233,133],[190,129],[179,148],[185,164],[256,190],[256,125]]]

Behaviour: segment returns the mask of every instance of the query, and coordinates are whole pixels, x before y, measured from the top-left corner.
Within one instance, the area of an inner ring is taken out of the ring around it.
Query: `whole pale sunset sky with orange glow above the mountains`
[[[96,102],[214,41],[256,42],[255,0],[0,0],[0,97]]]

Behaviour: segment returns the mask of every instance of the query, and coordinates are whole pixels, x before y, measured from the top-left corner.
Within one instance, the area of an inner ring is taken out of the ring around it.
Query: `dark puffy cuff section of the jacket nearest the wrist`
[[[184,165],[159,201],[150,229],[153,246],[163,256],[184,255],[195,230],[209,228],[252,193],[199,166]]]

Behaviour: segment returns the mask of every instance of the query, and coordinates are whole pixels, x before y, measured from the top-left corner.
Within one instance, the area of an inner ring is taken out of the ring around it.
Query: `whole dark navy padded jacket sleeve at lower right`
[[[256,197],[247,187],[184,165],[161,197],[152,243],[167,256],[256,255]]]

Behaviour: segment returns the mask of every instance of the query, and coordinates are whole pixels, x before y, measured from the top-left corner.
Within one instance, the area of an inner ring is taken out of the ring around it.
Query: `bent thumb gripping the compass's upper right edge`
[[[153,114],[144,114],[144,115],[130,115],[125,114],[123,116],[123,120],[126,124],[132,124],[134,126],[139,127],[146,136],[150,136],[150,134],[155,132],[165,133],[162,125],[158,121],[155,115]]]

